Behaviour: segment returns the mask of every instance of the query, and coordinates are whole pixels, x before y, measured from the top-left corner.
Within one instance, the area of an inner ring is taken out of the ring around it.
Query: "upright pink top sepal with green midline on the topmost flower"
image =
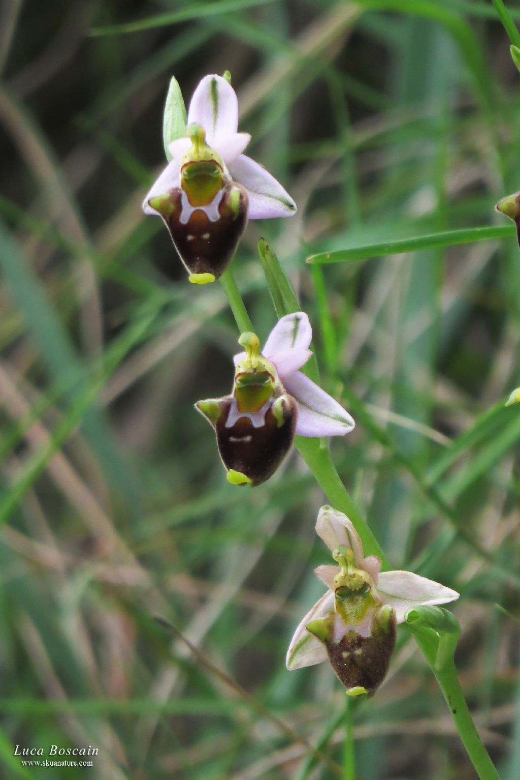
[[[188,109],[188,125],[191,122],[206,130],[206,143],[215,148],[237,132],[237,94],[222,76],[204,76],[199,83]]]

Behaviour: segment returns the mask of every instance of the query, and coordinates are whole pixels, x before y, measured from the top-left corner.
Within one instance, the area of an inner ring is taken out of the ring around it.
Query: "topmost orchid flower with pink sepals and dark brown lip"
[[[187,122],[168,144],[171,161],[142,208],[163,218],[189,281],[206,284],[226,270],[248,218],[290,217],[297,207],[274,176],[242,154],[251,136],[237,132],[237,95],[227,79],[202,79]]]

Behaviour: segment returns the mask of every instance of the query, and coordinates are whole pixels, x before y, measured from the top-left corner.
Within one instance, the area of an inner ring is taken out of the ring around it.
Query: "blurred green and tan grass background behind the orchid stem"
[[[164,165],[170,76],[188,102],[230,69],[251,156],[299,205],[241,243],[251,319],[261,339],[276,321],[265,236],[311,317],[323,385],[357,419],[332,444],[339,473],[396,568],[462,594],[462,685],[516,780],[520,416],[503,407],[520,384],[515,239],[304,263],[503,224],[520,74],[493,5],[6,0],[1,13],[0,776],[336,777],[302,737],[342,761],[332,671],[284,665],[323,588],[324,496],[296,453],[254,491],[227,484],[192,405],[229,392],[234,321],[140,211]],[[475,777],[411,640],[357,703],[354,737],[360,780]],[[12,757],[51,743],[97,746],[94,768]]]

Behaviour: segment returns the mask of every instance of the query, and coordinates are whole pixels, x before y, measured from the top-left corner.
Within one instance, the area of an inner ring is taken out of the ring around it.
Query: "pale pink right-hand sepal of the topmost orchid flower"
[[[279,181],[263,165],[245,154],[240,154],[230,164],[230,174],[235,182],[243,184],[248,190],[250,219],[292,217],[296,214],[296,204]]]

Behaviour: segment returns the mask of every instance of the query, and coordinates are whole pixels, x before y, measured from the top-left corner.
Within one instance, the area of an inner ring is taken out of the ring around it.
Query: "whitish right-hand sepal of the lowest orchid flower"
[[[456,590],[428,580],[413,572],[381,572],[378,594],[385,604],[395,609],[395,619],[404,622],[406,612],[413,607],[448,604],[459,598]]]

